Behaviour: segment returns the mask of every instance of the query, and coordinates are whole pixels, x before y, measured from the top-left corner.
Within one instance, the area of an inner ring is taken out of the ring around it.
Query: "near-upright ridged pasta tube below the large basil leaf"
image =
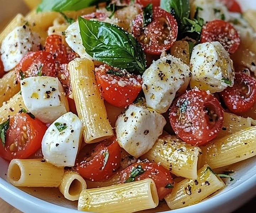
[[[76,58],[69,63],[73,97],[86,143],[96,143],[113,136],[93,70],[94,64],[88,59]]]

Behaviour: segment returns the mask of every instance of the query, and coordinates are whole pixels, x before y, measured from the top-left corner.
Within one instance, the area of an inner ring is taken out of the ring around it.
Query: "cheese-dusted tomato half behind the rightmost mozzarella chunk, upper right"
[[[201,43],[219,42],[229,53],[235,53],[240,44],[240,36],[228,22],[214,20],[203,26]]]

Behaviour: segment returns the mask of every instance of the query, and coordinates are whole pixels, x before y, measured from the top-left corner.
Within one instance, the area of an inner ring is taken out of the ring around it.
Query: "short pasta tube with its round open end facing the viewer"
[[[77,201],[82,190],[86,189],[85,180],[74,171],[66,171],[59,185],[60,192],[70,201]]]

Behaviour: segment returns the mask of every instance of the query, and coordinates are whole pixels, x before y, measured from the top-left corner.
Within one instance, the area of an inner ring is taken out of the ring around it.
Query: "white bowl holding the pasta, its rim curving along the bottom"
[[[238,0],[242,9],[256,9],[252,0]],[[0,0],[0,27],[6,19],[17,12],[27,12],[21,0]],[[42,189],[23,187],[18,189],[6,181],[8,163],[0,158],[0,198],[26,213],[78,213],[77,202],[63,198],[58,189]],[[234,169],[234,181],[228,183],[225,189],[211,198],[193,206],[167,211],[171,213],[228,213],[256,195],[256,157],[244,160],[230,166]],[[161,210],[164,211],[164,210]],[[151,212],[154,212],[152,210]]]

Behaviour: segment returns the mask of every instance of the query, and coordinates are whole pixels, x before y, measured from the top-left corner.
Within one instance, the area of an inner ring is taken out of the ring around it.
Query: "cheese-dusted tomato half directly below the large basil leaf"
[[[95,68],[96,79],[102,97],[116,107],[126,107],[134,102],[142,89],[142,78],[136,75],[124,75],[107,65]],[[113,75],[112,73],[118,73]]]

